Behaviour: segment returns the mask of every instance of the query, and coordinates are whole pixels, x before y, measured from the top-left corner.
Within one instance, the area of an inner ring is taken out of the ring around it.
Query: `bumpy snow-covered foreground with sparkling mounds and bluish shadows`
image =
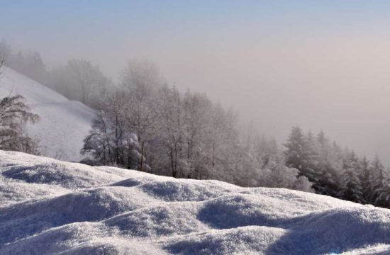
[[[390,254],[390,210],[0,151],[0,254]]]

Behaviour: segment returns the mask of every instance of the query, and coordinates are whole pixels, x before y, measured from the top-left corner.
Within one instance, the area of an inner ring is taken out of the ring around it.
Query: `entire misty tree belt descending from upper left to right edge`
[[[293,188],[390,208],[390,174],[380,159],[360,157],[324,132],[293,127],[279,147],[253,125],[243,129],[232,109],[205,94],[169,86],[152,62],[129,62],[114,86],[87,60],[48,70],[39,53],[15,54],[5,42],[1,49],[13,69],[96,109],[84,139],[84,163]]]

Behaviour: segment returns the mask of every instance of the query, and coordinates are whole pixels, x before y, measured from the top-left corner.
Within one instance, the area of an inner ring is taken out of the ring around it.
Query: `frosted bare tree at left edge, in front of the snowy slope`
[[[4,60],[0,57],[0,74],[3,64]],[[1,95],[0,149],[39,154],[38,142],[26,130],[27,123],[35,123],[38,119],[38,115],[31,113],[23,96]]]

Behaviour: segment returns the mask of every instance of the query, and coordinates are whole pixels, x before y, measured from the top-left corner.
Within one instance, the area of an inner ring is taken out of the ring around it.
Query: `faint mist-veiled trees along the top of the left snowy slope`
[[[48,69],[39,52],[14,52],[5,40],[0,42],[0,52],[8,67],[92,108],[97,107],[100,95],[111,84],[99,67],[87,60],[69,60],[64,65]]]

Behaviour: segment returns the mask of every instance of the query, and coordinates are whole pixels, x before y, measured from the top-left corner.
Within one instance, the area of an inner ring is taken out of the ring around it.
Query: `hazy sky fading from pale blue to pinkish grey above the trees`
[[[322,129],[390,165],[390,1],[0,0],[0,38],[113,79],[152,60],[279,141]]]

